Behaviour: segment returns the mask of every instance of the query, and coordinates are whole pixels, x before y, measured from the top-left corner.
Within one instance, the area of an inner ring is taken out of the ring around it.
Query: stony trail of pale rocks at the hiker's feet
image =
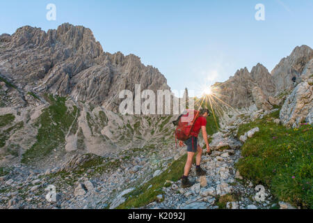
[[[164,188],[165,194],[159,199],[161,203],[150,203],[145,208],[173,208],[173,209],[257,209],[272,208],[276,204],[271,196],[265,201],[255,201],[257,191],[250,182],[244,182],[234,163],[241,156],[240,150],[214,151],[211,155],[202,157],[202,169],[206,176],[196,176],[195,167],[191,170],[189,179],[195,184],[189,188],[182,188],[180,181],[172,182],[170,187]],[[270,194],[268,190],[266,194]],[[228,195],[227,195],[228,194]],[[229,195],[232,194],[232,195]],[[236,196],[236,197],[235,197]],[[223,200],[217,197],[224,197]],[[239,199],[239,201],[234,201]],[[220,206],[218,206],[220,205]]]

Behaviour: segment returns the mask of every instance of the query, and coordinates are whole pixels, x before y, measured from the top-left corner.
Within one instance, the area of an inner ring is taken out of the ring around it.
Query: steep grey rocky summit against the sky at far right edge
[[[300,76],[312,75],[313,50],[303,45],[296,47],[290,54],[278,63],[271,75],[276,85],[276,92],[290,91],[294,89],[292,78],[296,77],[296,83],[301,81]]]

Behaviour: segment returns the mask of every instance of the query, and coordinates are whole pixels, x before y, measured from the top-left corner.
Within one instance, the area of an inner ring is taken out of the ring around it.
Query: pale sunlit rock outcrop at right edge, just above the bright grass
[[[280,110],[280,120],[288,127],[296,128],[301,122],[311,121],[313,107],[313,86],[301,82],[285,100]]]

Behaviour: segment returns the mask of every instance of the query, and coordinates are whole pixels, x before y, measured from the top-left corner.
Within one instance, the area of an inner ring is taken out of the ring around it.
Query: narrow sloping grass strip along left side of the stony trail
[[[125,208],[138,208],[157,201],[157,195],[163,194],[162,187],[166,183],[166,180],[177,181],[182,176],[184,170],[184,164],[186,162],[186,155],[174,161],[166,171],[159,176],[156,176],[149,180],[144,185],[137,187],[135,190],[126,194],[127,201],[118,206],[120,209]],[[147,189],[150,185],[149,189]]]

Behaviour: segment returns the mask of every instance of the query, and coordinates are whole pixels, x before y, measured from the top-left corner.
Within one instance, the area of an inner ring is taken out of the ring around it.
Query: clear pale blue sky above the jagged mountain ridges
[[[48,3],[56,5],[56,21],[46,20]],[[255,20],[257,3],[265,21]],[[0,33],[83,25],[104,51],[136,54],[171,89],[197,93],[239,68],[262,63],[271,72],[297,45],[313,47],[312,11],[313,0],[10,0],[1,2]]]

